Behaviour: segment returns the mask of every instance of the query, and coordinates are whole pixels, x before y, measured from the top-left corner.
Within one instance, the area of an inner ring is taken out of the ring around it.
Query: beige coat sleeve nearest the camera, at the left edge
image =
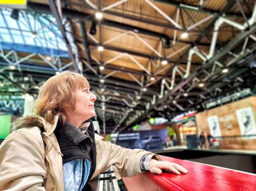
[[[38,131],[39,129],[33,129]],[[44,145],[40,132],[17,130],[0,146],[0,190],[45,190],[42,186],[47,171]]]

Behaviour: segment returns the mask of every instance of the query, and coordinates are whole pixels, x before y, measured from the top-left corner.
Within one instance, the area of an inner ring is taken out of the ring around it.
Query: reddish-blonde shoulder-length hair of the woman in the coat
[[[41,87],[35,102],[35,114],[50,123],[58,115],[61,123],[66,123],[65,107],[69,105],[75,109],[75,92],[81,88],[89,88],[89,82],[82,74],[64,71],[50,77]]]

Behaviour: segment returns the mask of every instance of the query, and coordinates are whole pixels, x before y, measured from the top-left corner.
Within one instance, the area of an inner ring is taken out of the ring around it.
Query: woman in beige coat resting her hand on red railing
[[[35,116],[16,120],[0,147],[0,190],[85,190],[110,165],[118,179],[146,170],[187,173],[150,152],[101,140],[90,120],[95,100],[83,75],[64,71],[50,77],[36,100]]]

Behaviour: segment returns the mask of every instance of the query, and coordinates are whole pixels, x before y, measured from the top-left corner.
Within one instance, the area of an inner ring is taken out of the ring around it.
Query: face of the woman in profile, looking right
[[[72,124],[82,123],[95,116],[94,102],[96,96],[90,92],[89,88],[78,89],[75,92],[75,110],[66,109],[66,114]]]

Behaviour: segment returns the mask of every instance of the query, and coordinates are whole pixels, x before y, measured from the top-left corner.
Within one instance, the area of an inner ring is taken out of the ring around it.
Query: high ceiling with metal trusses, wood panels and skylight
[[[255,20],[254,0],[33,0],[2,8],[0,94],[36,98],[56,71],[81,73],[105,133],[202,111],[211,99],[255,89]]]

